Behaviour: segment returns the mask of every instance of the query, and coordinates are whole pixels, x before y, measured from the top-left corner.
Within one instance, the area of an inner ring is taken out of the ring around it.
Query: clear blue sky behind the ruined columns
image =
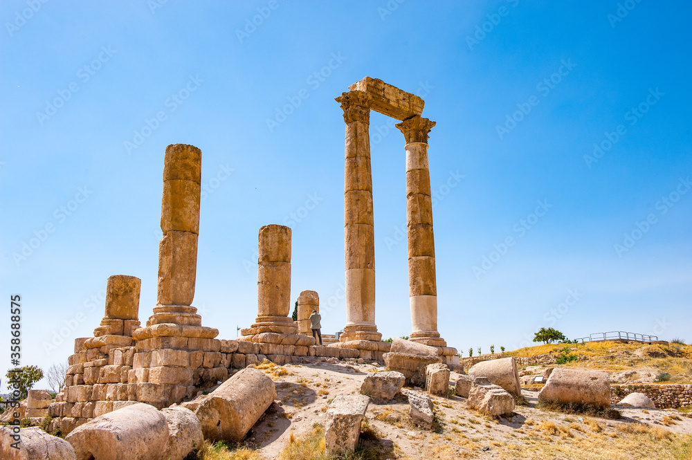
[[[1,291],[8,306],[23,299],[23,365],[66,360],[91,335],[110,275],[140,277],[140,320],[152,313],[173,143],[203,152],[203,324],[235,338],[253,322],[257,231],[281,223],[293,229],[291,297],[318,291],[322,331],[343,327],[334,98],[366,75],[421,95],[437,122],[438,316],[450,346],[514,349],[541,326],[692,339],[691,6],[159,3],[0,6]],[[410,333],[393,124],[371,115],[385,337]]]

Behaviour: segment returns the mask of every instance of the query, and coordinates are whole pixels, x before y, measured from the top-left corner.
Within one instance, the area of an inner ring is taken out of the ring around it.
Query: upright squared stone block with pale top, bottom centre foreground
[[[354,451],[369,403],[370,397],[363,395],[336,396],[331,401],[325,425],[328,455]]]

